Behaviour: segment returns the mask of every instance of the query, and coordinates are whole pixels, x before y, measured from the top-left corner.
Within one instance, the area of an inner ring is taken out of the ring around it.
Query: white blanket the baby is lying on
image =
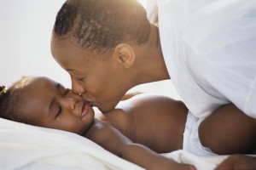
[[[197,169],[214,169],[227,156],[199,157],[183,150],[164,154]],[[0,169],[143,169],[74,133],[0,118]]]

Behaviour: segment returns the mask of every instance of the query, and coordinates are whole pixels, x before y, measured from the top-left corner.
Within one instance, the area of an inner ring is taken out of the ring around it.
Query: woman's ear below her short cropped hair
[[[124,68],[130,68],[135,60],[135,53],[133,48],[127,43],[119,43],[113,52],[114,58],[123,65]]]

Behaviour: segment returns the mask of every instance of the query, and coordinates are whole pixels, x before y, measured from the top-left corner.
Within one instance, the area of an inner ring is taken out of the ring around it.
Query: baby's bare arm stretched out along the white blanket
[[[160,156],[142,144],[134,144],[117,129],[98,120],[95,120],[85,137],[113,154],[146,169],[195,169],[193,166],[178,164],[165,156]]]

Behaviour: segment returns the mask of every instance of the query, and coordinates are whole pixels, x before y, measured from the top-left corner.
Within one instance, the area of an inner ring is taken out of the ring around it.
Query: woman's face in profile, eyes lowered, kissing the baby
[[[70,38],[53,36],[51,53],[72,80],[72,90],[106,112],[113,110],[130,88],[125,69],[112,57],[112,52],[96,54],[75,45]]]

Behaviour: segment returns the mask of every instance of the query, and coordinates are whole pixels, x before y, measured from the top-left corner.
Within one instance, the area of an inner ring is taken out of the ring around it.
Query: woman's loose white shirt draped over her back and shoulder
[[[158,0],[166,67],[195,116],[231,102],[256,118],[255,7],[255,0]]]

